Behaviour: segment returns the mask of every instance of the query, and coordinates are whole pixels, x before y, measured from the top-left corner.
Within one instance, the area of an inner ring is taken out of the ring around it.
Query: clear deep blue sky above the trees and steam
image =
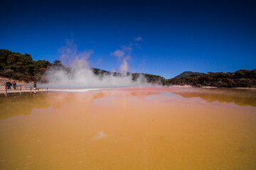
[[[242,0],[1,1],[0,49],[53,62],[72,40],[93,50],[92,67],[117,70],[111,52],[132,47],[132,72],[166,78],[255,69],[255,8]]]

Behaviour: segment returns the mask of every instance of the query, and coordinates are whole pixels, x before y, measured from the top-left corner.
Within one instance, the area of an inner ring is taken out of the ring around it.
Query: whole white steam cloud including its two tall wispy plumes
[[[128,62],[131,59],[132,47],[122,46],[122,49],[111,52],[110,55],[117,57],[122,62],[119,73],[101,73],[96,75],[88,64],[88,59],[93,51],[78,52],[78,47],[72,41],[68,41],[65,47],[60,48],[61,60],[68,67],[53,67],[49,69],[45,77],[48,84],[39,84],[52,89],[84,89],[106,87],[132,87],[150,86],[143,75],[136,81],[132,80],[132,74],[127,74]]]

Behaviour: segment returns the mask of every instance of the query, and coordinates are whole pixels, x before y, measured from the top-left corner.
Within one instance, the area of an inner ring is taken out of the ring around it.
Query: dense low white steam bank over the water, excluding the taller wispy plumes
[[[81,61],[80,62],[85,62]],[[144,77],[140,76],[137,81],[132,81],[132,76],[122,74],[120,77],[115,77],[113,73],[97,76],[92,72],[92,69],[82,66],[78,63],[76,67],[71,67],[70,71],[65,69],[51,69],[46,73],[49,81],[49,88],[58,89],[82,89],[82,88],[104,88],[104,87],[132,87],[146,86]]]

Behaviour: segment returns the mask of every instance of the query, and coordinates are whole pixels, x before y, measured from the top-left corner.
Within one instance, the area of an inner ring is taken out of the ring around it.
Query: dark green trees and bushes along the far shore
[[[11,52],[9,50],[0,50],[0,76],[9,79],[15,79],[17,81],[41,81],[47,82],[46,77],[43,75],[46,71],[52,67],[63,67],[59,60],[55,60],[53,63],[47,60],[33,60],[31,55],[19,52]],[[104,74],[110,74],[102,69],[92,68],[98,76],[104,76]],[[132,79],[136,80],[139,77],[139,73],[127,73],[132,74]],[[119,76],[120,73],[114,73],[114,76]],[[153,84],[170,85],[191,85],[191,86],[216,86],[216,87],[256,87],[256,69],[247,70],[240,69],[237,72],[208,72],[208,74],[198,72],[183,72],[174,79],[165,79],[164,77],[143,74],[147,81]]]

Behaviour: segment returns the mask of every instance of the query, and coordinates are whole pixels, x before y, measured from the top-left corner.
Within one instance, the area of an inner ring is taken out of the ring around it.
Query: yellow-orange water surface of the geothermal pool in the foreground
[[[256,92],[108,89],[0,98],[0,169],[256,169]]]

